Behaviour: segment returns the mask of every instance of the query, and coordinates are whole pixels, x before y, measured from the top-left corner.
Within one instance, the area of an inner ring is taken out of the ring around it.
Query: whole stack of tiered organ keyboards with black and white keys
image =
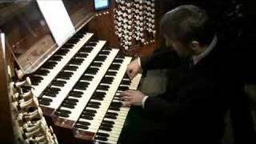
[[[30,78],[43,114],[56,126],[73,130],[76,138],[115,143],[129,111],[118,94],[136,90],[140,75],[130,82],[131,58],[92,37],[74,35]]]

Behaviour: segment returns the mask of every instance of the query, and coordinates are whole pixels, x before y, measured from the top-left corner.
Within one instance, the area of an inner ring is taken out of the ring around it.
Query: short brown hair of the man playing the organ
[[[184,44],[196,40],[202,45],[210,44],[215,34],[206,11],[193,5],[178,6],[167,12],[160,22],[160,31],[170,40]]]

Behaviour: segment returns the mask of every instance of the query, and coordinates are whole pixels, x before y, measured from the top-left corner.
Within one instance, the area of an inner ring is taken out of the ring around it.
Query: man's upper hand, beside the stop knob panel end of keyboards
[[[133,79],[138,74],[139,70],[141,70],[141,66],[138,65],[138,58],[136,58],[127,66],[126,73],[130,79]]]

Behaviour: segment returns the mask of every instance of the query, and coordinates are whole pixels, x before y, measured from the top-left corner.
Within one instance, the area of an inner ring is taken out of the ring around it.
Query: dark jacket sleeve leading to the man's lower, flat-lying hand
[[[214,86],[206,81],[198,82],[178,92],[174,101],[166,98],[173,97],[168,93],[146,99],[144,110],[146,114],[157,116],[159,119],[179,119],[190,115],[207,114],[211,110],[221,109],[222,102]],[[222,98],[223,100],[223,98]],[[216,108],[216,106],[219,106]]]

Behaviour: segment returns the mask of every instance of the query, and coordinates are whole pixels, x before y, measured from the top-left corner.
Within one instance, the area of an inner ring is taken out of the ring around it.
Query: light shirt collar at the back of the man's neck
[[[202,54],[192,56],[194,65],[196,65],[202,58],[205,58],[206,55],[208,55],[210,51],[214,49],[214,46],[216,46],[217,41],[218,41],[218,38],[216,35],[214,35],[214,38],[210,42],[210,45],[206,48],[206,50]]]

